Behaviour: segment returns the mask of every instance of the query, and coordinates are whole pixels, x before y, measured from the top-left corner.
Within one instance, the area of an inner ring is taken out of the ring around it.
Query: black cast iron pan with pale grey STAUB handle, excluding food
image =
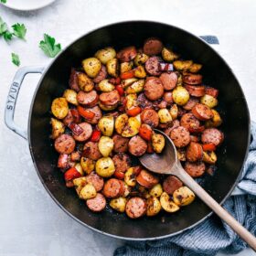
[[[103,234],[126,240],[155,240],[175,235],[206,219],[211,210],[199,199],[175,214],[164,212],[154,218],[128,219],[108,208],[93,213],[80,200],[75,189],[65,187],[63,175],[56,167],[58,154],[49,139],[51,101],[68,87],[71,67],[79,67],[82,59],[93,56],[106,46],[120,49],[141,47],[147,37],[159,37],[164,44],[173,44],[184,59],[203,64],[208,85],[219,89],[219,112],[224,123],[221,129],[225,141],[219,147],[218,170],[206,176],[203,187],[219,203],[229,197],[236,186],[250,141],[250,114],[240,84],[227,63],[200,38],[185,30],[156,22],[133,21],[101,27],[80,37],[54,59],[48,69],[27,67],[19,69],[12,83],[5,109],[5,123],[28,139],[37,174],[49,195],[65,212],[82,225]],[[16,97],[27,73],[43,72],[31,103],[28,135],[13,121]]]

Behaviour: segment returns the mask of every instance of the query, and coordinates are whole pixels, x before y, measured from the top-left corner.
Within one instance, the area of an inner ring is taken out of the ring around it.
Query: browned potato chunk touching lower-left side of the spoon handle
[[[195,199],[195,194],[186,186],[179,187],[173,194],[174,202],[179,207],[191,204]]]

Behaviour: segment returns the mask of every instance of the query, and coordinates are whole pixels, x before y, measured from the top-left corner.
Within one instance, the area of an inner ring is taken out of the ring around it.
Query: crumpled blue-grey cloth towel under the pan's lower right
[[[256,123],[251,123],[251,145],[238,187],[245,193],[224,203],[235,219],[256,235]],[[194,256],[216,255],[219,251],[237,253],[246,248],[229,226],[212,215],[193,229],[171,238],[154,241],[127,241],[114,256]]]

